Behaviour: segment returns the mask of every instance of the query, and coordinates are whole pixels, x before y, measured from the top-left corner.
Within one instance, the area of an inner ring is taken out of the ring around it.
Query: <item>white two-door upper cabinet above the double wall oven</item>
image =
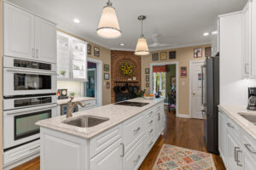
[[[55,24],[3,3],[3,54],[56,63]]]

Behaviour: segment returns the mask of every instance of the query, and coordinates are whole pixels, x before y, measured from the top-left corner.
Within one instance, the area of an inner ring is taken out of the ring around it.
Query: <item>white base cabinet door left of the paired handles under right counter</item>
[[[237,150],[240,150],[238,147],[238,144],[236,143],[235,138],[232,136],[232,134],[229,132],[229,130],[226,130],[227,132],[227,156],[225,157],[226,165],[228,166],[228,169],[237,170],[237,164],[236,164],[236,156],[237,156]]]

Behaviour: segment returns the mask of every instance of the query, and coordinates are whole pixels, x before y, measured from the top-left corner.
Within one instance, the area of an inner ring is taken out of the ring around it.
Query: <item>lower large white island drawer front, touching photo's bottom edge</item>
[[[144,158],[143,139],[144,138],[140,139],[137,144],[125,154],[123,159],[123,170],[136,170],[140,167]]]

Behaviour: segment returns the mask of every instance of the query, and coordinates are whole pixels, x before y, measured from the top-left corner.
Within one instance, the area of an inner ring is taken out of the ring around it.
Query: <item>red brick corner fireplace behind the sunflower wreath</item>
[[[133,66],[133,75],[132,76],[123,76],[120,68],[125,62],[131,63]],[[111,103],[114,103],[116,100],[115,92],[113,87],[115,86],[116,81],[128,82],[128,79],[133,81],[133,77],[136,77],[137,86],[142,87],[142,60],[140,56],[134,54],[133,51],[111,51]],[[129,97],[127,92],[118,94],[125,98],[125,95]]]

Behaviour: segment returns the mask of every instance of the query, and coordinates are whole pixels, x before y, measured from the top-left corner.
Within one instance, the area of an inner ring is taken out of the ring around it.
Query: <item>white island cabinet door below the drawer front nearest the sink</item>
[[[122,169],[122,139],[111,144],[107,149],[90,159],[90,170]]]

